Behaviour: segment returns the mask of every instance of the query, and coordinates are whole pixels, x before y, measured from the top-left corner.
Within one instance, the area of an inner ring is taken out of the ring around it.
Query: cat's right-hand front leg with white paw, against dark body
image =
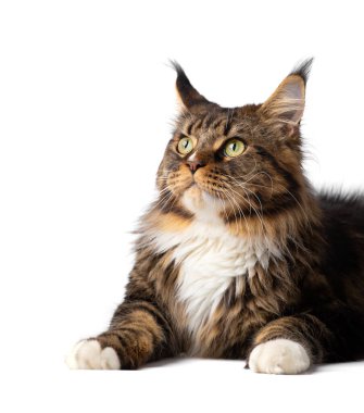
[[[364,356],[364,315],[342,304],[277,318],[258,331],[248,365],[258,373],[298,374],[312,364]]]

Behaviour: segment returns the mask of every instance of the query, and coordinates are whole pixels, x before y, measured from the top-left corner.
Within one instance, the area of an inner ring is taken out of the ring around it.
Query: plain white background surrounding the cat
[[[363,188],[363,38],[360,1],[1,1],[3,412],[362,411],[364,363],[277,377],[199,360],[70,372],[63,356],[123,297],[176,109],[168,59],[239,105],[314,55],[307,175]]]

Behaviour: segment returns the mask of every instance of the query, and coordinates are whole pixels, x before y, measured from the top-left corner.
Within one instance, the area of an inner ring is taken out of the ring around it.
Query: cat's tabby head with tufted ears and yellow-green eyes
[[[158,172],[159,208],[186,217],[217,213],[226,223],[302,208],[300,121],[311,63],[264,103],[230,109],[200,95],[174,63],[180,111]]]

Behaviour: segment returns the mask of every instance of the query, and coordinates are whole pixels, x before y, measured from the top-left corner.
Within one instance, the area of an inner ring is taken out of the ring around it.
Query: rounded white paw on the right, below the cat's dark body
[[[310,367],[310,358],[300,343],[277,338],[253,349],[249,367],[255,373],[298,374]]]

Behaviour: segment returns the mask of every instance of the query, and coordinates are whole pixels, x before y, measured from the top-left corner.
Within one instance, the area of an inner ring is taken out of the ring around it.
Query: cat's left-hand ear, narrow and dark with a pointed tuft
[[[176,92],[183,110],[193,113],[198,112],[203,107],[213,104],[194,89],[186,76],[185,71],[177,62],[171,61],[171,64],[177,73]]]

